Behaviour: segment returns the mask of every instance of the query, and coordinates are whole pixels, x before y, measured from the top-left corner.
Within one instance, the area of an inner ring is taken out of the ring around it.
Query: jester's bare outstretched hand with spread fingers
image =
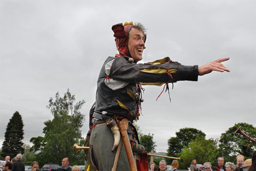
[[[212,71],[219,71],[219,72],[227,71],[227,72],[229,72],[230,70],[221,63],[221,62],[227,61],[228,59],[229,59],[229,57],[220,58],[220,59],[217,59],[215,61],[206,63],[206,64],[198,67],[198,75],[201,76],[201,75],[209,74]]]

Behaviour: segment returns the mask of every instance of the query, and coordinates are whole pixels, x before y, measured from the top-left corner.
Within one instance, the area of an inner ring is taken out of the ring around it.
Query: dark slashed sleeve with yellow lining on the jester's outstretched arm
[[[142,85],[163,85],[177,81],[197,81],[198,66],[181,65],[169,57],[149,63],[129,63],[125,57],[114,59],[110,78]]]

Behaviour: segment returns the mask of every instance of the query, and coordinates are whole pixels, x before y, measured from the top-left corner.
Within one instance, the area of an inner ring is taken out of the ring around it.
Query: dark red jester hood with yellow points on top
[[[119,54],[116,54],[117,56],[128,56],[132,57],[130,55],[129,49],[128,49],[128,34],[133,26],[133,22],[131,21],[130,23],[125,22],[124,25],[123,23],[116,24],[112,26],[112,30],[114,32],[114,37],[116,41],[116,48],[119,52]],[[144,42],[146,41],[146,37]]]

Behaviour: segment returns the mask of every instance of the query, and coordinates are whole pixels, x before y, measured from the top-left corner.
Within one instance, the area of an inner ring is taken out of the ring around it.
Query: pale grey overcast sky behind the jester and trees
[[[221,57],[230,72],[174,83],[168,93],[143,86],[137,124],[153,133],[156,151],[180,128],[220,138],[235,123],[256,126],[256,1],[254,0],[0,0],[0,147],[15,111],[24,123],[24,143],[44,136],[50,97],[67,89],[85,100],[82,127],[96,81],[108,56],[117,53],[112,25],[141,22],[147,30],[143,61],[169,56],[185,65],[203,65]],[[170,85],[171,87],[171,85]],[[74,125],[75,126],[75,125]]]

